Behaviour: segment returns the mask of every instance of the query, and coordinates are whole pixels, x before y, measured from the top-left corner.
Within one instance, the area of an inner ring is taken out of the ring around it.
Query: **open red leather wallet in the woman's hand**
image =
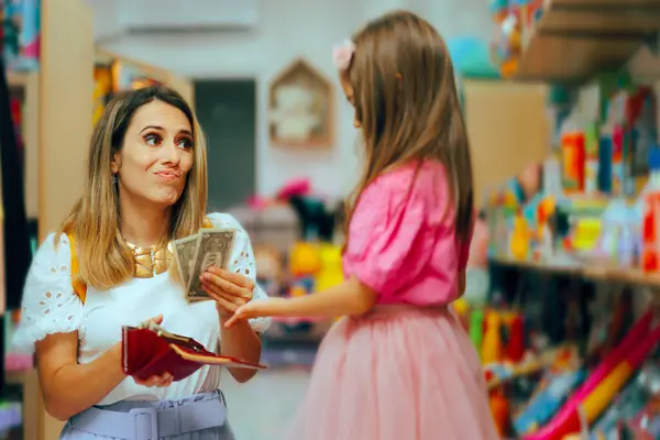
[[[169,373],[176,382],[188,377],[202,365],[267,369],[237,358],[219,356],[191,338],[138,327],[122,328],[121,363],[125,374],[141,381]]]

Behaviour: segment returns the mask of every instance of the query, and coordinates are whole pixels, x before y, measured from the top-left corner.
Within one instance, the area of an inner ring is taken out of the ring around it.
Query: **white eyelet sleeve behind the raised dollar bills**
[[[232,248],[229,270],[241,274],[254,283],[253,299],[267,298],[266,293],[256,283],[256,261],[252,251],[252,243],[245,229],[239,221],[228,213],[210,213],[207,216],[213,224],[213,228],[235,229],[234,245]],[[250,320],[250,326],[257,333],[263,333],[271,327],[271,318],[254,318]]]

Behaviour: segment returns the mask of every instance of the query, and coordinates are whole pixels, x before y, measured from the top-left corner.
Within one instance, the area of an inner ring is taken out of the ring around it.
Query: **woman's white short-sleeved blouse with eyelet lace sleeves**
[[[255,280],[255,261],[245,230],[227,213],[212,213],[208,218],[216,228],[239,231],[230,270]],[[183,287],[164,273],[152,278],[133,278],[109,290],[88,286],[82,304],[72,287],[70,261],[65,234],[59,237],[58,246],[55,246],[54,234],[48,235],[36,252],[25,283],[21,322],[14,334],[16,349],[32,350],[36,341],[48,334],[77,330],[78,362],[88,363],[121,341],[122,326],[136,326],[163,315],[162,326],[166,330],[191,337],[207,350],[217,352],[220,324],[215,301],[188,305]],[[254,297],[265,296],[257,286]],[[263,332],[271,322],[270,319],[255,319],[250,323],[255,331]],[[205,366],[167,388],[147,388],[127,377],[98,404],[110,405],[127,399],[179,399],[218,389],[219,385],[220,367],[217,366]]]

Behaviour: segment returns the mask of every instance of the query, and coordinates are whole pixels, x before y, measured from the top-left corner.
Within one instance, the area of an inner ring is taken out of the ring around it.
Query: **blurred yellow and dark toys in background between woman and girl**
[[[292,179],[274,197],[254,197],[230,210],[252,238],[258,283],[270,296],[310,295],[343,282],[342,251],[334,243],[342,210],[315,194],[307,178]],[[275,318],[264,338],[318,341],[331,322]]]

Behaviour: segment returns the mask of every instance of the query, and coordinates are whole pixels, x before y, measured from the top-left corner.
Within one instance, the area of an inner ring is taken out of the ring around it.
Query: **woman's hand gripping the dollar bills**
[[[253,297],[254,282],[241,274],[211,266],[200,275],[199,280],[204,290],[216,300],[221,316],[233,315]]]

